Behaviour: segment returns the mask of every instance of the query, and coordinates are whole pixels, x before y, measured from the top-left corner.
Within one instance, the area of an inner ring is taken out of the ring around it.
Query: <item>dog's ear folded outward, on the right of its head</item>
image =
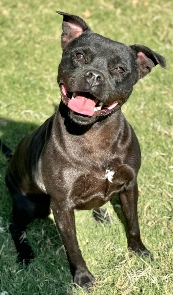
[[[139,79],[151,72],[151,69],[157,64],[159,64],[162,68],[166,68],[166,60],[162,55],[159,55],[144,45],[135,44],[130,45],[130,47],[136,52]]]

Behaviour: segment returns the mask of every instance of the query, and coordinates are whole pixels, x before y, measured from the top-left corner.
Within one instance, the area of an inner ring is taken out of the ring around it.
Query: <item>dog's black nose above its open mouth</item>
[[[105,76],[97,70],[88,70],[84,73],[84,76],[90,86],[98,86],[105,82]]]

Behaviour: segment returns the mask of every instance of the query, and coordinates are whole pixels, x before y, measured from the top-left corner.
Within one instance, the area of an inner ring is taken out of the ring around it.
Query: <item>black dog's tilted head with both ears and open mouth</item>
[[[83,19],[58,12],[62,22],[62,60],[57,81],[70,118],[91,124],[116,112],[134,84],[165,58],[143,45],[130,45],[93,33]]]

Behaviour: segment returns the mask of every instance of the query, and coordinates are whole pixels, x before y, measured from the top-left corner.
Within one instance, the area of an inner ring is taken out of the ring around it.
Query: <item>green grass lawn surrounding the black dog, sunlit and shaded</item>
[[[14,150],[20,139],[50,117],[60,101],[62,17],[85,18],[94,32],[128,44],[143,44],[167,60],[140,80],[123,106],[142,153],[138,213],[141,236],[154,261],[127,250],[122,223],[110,203],[113,224],[98,225],[90,211],[76,212],[83,257],[97,280],[94,295],[172,294],[172,1],[0,1],[0,138]],[[28,269],[16,261],[9,223],[12,202],[0,153],[0,295],[85,294],[75,290],[62,242],[50,219],[28,227],[37,257]]]

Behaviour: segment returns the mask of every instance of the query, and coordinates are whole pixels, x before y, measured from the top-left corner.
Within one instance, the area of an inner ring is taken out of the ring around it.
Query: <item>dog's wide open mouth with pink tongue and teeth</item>
[[[118,106],[119,102],[113,104],[103,104],[90,92],[75,91],[70,92],[62,85],[61,99],[73,112],[87,117],[98,117],[110,114]]]

